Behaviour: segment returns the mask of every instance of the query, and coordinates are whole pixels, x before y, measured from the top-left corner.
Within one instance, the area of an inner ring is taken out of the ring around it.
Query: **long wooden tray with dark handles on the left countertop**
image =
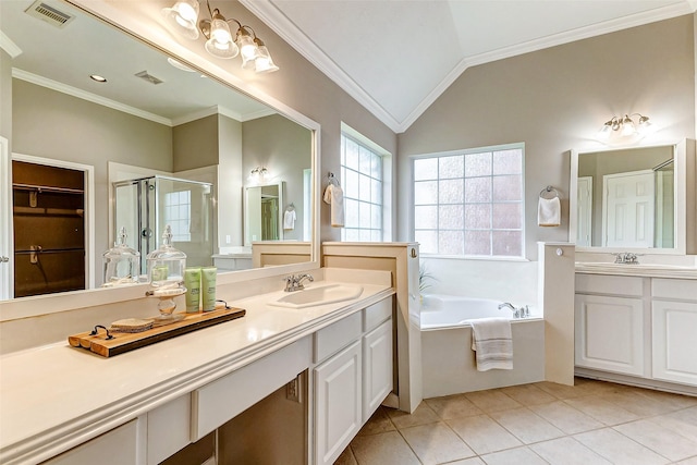
[[[106,331],[103,329],[99,329],[98,334],[95,335],[89,331],[70,335],[68,336],[68,342],[73,347],[87,348],[102,357],[112,357],[139,347],[145,347],[146,345],[155,344],[156,342],[196,331],[197,329],[207,328],[235,318],[242,318],[245,314],[246,310],[242,308],[221,308],[206,313],[199,311],[196,314],[181,313],[179,315],[183,315],[184,318],[170,325],[154,327],[146,331],[136,333],[109,331],[109,334],[113,338],[108,340]]]

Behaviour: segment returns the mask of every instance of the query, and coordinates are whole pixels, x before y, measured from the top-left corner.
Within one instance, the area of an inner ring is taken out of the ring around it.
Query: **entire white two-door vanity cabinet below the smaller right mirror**
[[[576,374],[697,394],[697,269],[578,265]]]

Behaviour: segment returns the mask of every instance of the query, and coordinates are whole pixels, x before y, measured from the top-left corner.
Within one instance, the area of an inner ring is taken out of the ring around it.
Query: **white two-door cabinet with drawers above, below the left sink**
[[[317,464],[334,463],[392,391],[392,331],[389,297],[315,334]]]

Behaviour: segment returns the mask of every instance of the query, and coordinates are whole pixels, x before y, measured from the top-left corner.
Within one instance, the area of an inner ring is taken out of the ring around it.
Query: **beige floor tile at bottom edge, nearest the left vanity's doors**
[[[419,465],[418,458],[396,431],[356,436],[351,450],[359,465]]]

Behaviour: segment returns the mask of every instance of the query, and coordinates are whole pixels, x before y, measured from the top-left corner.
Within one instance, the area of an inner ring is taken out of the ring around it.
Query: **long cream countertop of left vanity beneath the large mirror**
[[[4,355],[0,462],[66,435],[88,440],[394,293],[359,285],[355,299],[302,309],[266,304],[282,291],[229,301],[246,316],[110,358],[69,346],[68,335],[64,343]]]

